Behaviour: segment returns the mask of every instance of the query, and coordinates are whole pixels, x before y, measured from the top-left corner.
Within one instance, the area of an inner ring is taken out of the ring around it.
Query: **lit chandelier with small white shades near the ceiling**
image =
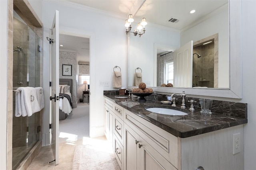
[[[124,26],[126,27],[126,35],[130,32],[133,33],[134,36],[139,35],[141,36],[142,34],[145,33],[145,25],[148,23],[146,22],[146,18],[142,18],[142,21],[138,23],[137,29],[135,29],[133,32],[131,31],[132,29],[132,22],[134,21],[132,14],[129,14],[129,18],[125,20]],[[138,32],[139,30],[139,32]],[[143,33],[141,33],[141,30]]]

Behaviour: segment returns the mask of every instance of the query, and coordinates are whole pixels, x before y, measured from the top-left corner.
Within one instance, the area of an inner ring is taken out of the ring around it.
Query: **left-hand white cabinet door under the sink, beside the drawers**
[[[124,123],[124,170],[140,169],[139,135]]]

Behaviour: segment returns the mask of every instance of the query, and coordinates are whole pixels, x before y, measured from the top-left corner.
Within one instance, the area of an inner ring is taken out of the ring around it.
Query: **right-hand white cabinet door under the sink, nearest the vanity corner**
[[[141,170],[177,170],[141,137],[138,149],[140,150]]]

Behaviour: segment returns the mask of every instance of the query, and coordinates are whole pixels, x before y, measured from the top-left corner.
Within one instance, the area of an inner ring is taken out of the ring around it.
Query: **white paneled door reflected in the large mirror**
[[[192,87],[193,41],[173,52],[173,86]]]

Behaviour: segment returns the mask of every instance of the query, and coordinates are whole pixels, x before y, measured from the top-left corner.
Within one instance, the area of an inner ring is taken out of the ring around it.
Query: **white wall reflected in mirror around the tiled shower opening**
[[[180,46],[218,33],[218,88],[229,88],[229,14],[228,6],[208,20],[180,34]]]

